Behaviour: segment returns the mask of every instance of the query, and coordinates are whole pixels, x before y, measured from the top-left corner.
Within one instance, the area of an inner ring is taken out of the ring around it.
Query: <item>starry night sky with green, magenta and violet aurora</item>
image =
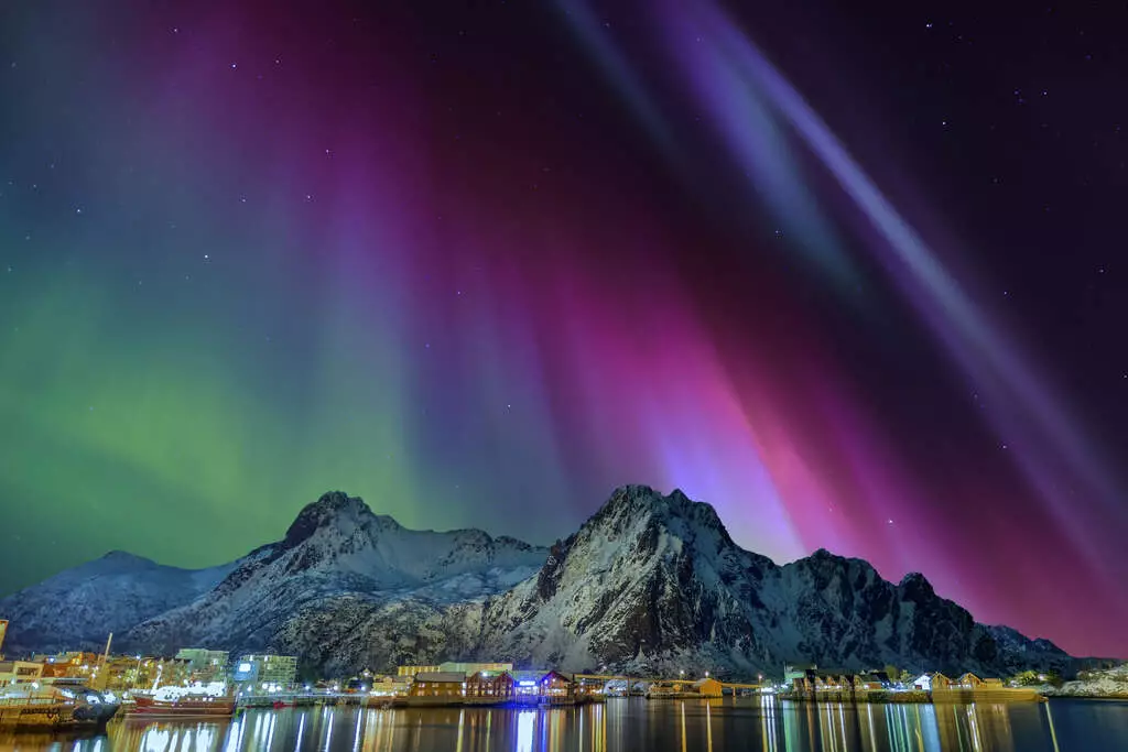
[[[282,5],[0,9],[0,592],[646,483],[1128,655],[1122,10]]]

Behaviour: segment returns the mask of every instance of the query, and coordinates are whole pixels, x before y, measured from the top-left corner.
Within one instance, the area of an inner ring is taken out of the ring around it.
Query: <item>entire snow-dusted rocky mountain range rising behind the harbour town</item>
[[[617,489],[549,549],[477,530],[406,530],[334,493],[282,540],[187,573],[191,587],[130,567],[98,586],[96,570],[53,581],[76,590],[72,608],[99,639],[114,620],[132,627],[122,636],[131,649],[274,651],[328,675],[470,657],[730,676],[776,674],[785,662],[990,675],[1070,665],[1046,640],[976,623],[923,575],[895,584],[823,550],[777,566],[737,546],[713,507],[644,486]],[[73,645],[61,611],[44,605],[60,590],[53,581],[0,601],[0,618],[33,625],[14,634]]]

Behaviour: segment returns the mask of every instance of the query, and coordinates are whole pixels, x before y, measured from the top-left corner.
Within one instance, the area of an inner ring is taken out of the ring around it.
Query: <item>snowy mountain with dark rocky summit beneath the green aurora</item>
[[[391,631],[409,644],[421,621],[512,587],[546,554],[481,530],[407,530],[335,492],[303,508],[281,541],[239,559],[212,591],[136,625],[123,643],[161,653],[270,648],[343,664],[354,653],[345,643],[365,635],[367,623],[376,627],[365,644]],[[356,652],[358,661],[374,657]]]

